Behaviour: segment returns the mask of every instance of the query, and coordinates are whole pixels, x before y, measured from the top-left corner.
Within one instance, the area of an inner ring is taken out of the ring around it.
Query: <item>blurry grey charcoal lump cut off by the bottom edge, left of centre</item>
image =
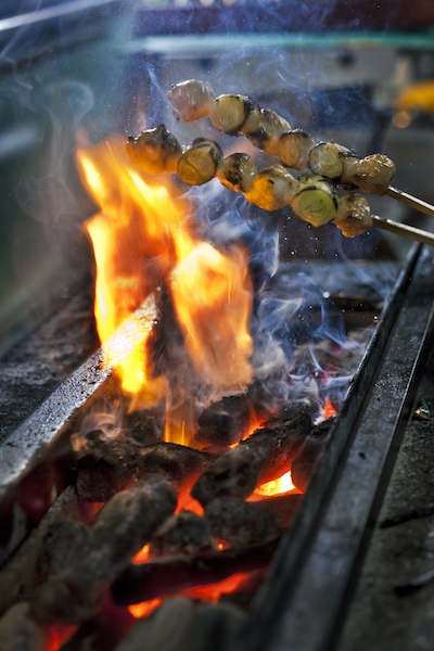
[[[194,603],[175,597],[141,620],[116,651],[181,651],[181,640],[194,612]],[[189,649],[189,647],[186,647]]]

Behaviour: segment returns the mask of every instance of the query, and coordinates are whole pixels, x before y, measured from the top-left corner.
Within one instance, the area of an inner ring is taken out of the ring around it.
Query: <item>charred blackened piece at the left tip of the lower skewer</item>
[[[146,174],[176,171],[182,153],[178,140],[164,125],[142,131],[138,138],[130,136],[125,149],[131,163]]]

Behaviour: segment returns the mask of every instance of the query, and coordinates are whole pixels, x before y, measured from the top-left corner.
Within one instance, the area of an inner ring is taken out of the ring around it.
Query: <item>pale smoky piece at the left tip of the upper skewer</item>
[[[171,102],[175,117],[183,122],[195,122],[209,114],[214,94],[202,81],[189,79],[174,86],[167,93],[167,99]]]

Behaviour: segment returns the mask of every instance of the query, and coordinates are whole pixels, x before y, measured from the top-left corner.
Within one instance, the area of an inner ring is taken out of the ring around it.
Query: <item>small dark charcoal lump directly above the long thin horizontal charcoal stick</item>
[[[193,556],[216,549],[208,523],[192,511],[171,515],[152,537],[151,558],[167,556]]]

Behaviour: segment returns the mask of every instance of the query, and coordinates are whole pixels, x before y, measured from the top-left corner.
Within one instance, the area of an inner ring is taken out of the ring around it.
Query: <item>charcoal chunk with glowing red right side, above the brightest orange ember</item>
[[[191,496],[203,507],[217,497],[247,498],[263,482],[290,470],[291,461],[311,429],[306,412],[271,421],[238,447],[221,455],[195,482]]]

